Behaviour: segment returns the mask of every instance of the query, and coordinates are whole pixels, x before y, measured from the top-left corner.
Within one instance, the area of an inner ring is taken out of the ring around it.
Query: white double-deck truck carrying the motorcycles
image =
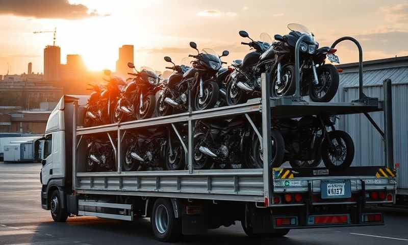
[[[301,40],[301,39],[299,39]],[[297,59],[298,60],[298,59]],[[298,65],[298,64],[297,64]],[[299,69],[295,69],[299,70]],[[133,220],[150,217],[155,236],[171,241],[181,234],[205,233],[240,221],[249,236],[283,236],[290,229],[364,226],[384,224],[373,205],[393,203],[396,176],[390,157],[385,166],[348,167],[343,171],[326,168],[270,168],[271,118],[294,118],[317,114],[364,113],[374,127],[369,112],[383,111],[389,104],[365,97],[350,103],[305,102],[299,96],[271,98],[268,74],[262,75],[262,98],[245,104],[202,111],[121,122],[90,128],[80,125],[86,96],[65,95],[52,112],[42,140],[41,203],[54,220],[68,215],[89,215]],[[297,84],[299,78],[296,77]],[[362,82],[361,82],[362,89]],[[390,86],[390,83],[385,83]],[[298,94],[299,87],[297,86]],[[362,90],[361,90],[362,92]],[[189,100],[191,101],[191,100]],[[191,107],[190,107],[191,108]],[[251,114],[261,114],[261,132]],[[390,117],[387,108],[385,118]],[[193,168],[193,128],[198,119],[245,115],[262,142],[263,168]],[[122,139],[140,128],[172,126],[187,122],[186,170],[122,171]],[[87,172],[84,137],[107,135],[116,155],[116,171]],[[392,142],[392,133],[382,133]],[[389,151],[387,151],[389,152]],[[391,151],[392,152],[392,151]],[[391,156],[392,158],[392,156]],[[342,193],[330,193],[333,186]]]

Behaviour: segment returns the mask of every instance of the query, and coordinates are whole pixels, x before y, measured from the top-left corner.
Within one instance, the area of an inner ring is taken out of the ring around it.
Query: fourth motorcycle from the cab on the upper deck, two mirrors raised
[[[189,55],[195,60],[192,67],[183,74],[183,79],[194,78],[192,85],[192,95],[194,97],[193,108],[195,110],[205,110],[213,108],[219,99],[219,86],[216,76],[221,68],[221,57],[230,54],[223,51],[218,56],[210,48],[204,48],[200,53],[195,42],[190,42],[190,47],[197,51],[197,55]]]

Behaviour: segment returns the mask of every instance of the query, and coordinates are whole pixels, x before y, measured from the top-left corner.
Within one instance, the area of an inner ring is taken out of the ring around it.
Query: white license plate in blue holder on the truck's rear
[[[350,180],[322,180],[321,198],[350,198],[351,183]]]

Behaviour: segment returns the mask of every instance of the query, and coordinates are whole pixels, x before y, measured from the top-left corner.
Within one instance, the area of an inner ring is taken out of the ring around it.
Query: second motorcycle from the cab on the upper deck
[[[133,68],[135,73],[128,73],[133,78],[130,79],[115,105],[114,122],[125,121],[127,118],[150,118],[155,112],[155,94],[160,89],[161,77],[148,67],[138,71],[131,62],[127,63],[127,66]]]

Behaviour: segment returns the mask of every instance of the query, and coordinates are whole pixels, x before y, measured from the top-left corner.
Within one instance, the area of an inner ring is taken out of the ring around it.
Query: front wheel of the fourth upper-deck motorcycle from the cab
[[[203,84],[203,93],[200,95],[200,89],[197,87],[195,91],[194,106],[195,109],[205,110],[215,106],[218,101],[219,87],[214,81],[206,81]]]

